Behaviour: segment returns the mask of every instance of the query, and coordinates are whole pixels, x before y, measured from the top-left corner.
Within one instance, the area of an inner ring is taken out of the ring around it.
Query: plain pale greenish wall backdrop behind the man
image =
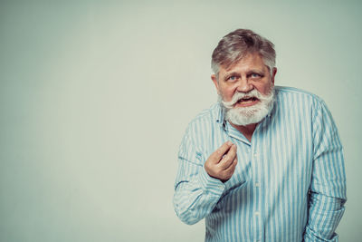
[[[1,1],[0,241],[203,241],[172,197],[186,125],[216,102],[217,42],[276,46],[276,84],[318,94],[345,147],[340,241],[360,241],[359,1]],[[272,144],[271,144],[272,145]]]

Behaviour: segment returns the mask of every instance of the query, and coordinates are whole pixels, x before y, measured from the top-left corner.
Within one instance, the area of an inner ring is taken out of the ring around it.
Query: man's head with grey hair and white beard
[[[273,105],[273,44],[251,30],[224,36],[214,49],[211,76],[225,110],[235,125],[262,121]]]

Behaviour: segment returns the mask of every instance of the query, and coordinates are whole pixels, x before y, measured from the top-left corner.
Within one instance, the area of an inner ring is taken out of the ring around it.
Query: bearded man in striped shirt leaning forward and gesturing
[[[205,218],[205,241],[338,241],[346,178],[325,102],[274,87],[273,44],[251,30],[225,35],[212,69],[220,98],[182,140],[177,216]]]

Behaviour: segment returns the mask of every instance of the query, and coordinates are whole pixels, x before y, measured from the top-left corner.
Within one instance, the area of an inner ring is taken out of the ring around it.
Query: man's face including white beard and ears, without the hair
[[[262,120],[272,108],[276,68],[269,71],[259,53],[248,53],[229,68],[220,66],[218,80],[211,78],[226,108],[226,118],[236,125]]]

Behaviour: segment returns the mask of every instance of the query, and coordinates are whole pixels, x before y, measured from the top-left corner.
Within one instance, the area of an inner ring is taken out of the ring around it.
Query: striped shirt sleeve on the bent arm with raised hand
[[[204,163],[203,152],[186,131],[178,152],[174,208],[178,218],[189,225],[210,214],[225,189],[222,181],[207,174]]]

